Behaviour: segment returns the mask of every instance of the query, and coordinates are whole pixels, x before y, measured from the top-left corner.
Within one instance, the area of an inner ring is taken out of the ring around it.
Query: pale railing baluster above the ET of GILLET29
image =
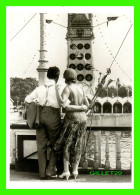
[[[110,169],[110,161],[109,161],[109,131],[105,131],[106,135],[106,147],[105,147],[105,168]]]

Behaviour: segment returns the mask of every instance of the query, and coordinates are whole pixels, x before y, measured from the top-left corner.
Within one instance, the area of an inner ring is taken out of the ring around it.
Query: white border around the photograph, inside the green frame
[[[102,14],[102,13],[132,13],[134,14],[134,7],[131,6],[72,6],[72,7],[64,7],[64,6],[7,6],[6,8],[6,48],[7,48],[7,57],[6,57],[6,81],[7,81],[7,118],[6,118],[6,188],[7,189],[133,189],[134,188],[134,141],[132,142],[132,181],[131,183],[95,183],[95,182],[71,182],[71,181],[43,181],[43,182],[26,182],[26,181],[10,181],[10,169],[9,169],[9,162],[10,162],[10,131],[9,131],[9,125],[10,125],[10,60],[9,60],[9,54],[10,54],[10,47],[9,47],[9,14],[10,12],[19,12],[24,13],[30,12],[30,13],[95,13],[95,14]],[[134,32],[134,29],[133,29]],[[133,57],[134,58],[134,57]],[[132,64],[134,63],[134,59],[132,61]],[[132,72],[134,75],[134,68],[132,68]],[[132,78],[133,80],[134,78]],[[134,83],[134,81],[133,81]],[[133,85],[132,85],[133,86]],[[134,88],[133,88],[134,89]],[[134,92],[133,92],[133,102],[134,102]],[[134,105],[134,104],[133,104]],[[133,113],[134,113],[134,106]],[[132,113],[132,140],[134,140],[134,116]],[[91,176],[94,177],[94,176]]]

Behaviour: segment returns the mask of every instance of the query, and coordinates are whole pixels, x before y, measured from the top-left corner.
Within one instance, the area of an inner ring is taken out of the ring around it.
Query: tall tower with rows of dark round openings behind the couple
[[[67,67],[77,72],[77,81],[84,88],[93,89],[92,14],[68,14],[68,60]]]

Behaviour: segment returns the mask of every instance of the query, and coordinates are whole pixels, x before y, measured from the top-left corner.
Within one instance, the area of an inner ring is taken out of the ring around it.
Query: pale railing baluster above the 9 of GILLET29
[[[121,147],[120,147],[121,131],[116,132],[116,169],[121,170]]]

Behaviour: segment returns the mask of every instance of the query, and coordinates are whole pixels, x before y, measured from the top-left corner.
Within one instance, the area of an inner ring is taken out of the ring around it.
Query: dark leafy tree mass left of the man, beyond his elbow
[[[10,78],[10,97],[14,100],[14,104],[24,102],[25,97],[30,94],[38,86],[35,78]]]

